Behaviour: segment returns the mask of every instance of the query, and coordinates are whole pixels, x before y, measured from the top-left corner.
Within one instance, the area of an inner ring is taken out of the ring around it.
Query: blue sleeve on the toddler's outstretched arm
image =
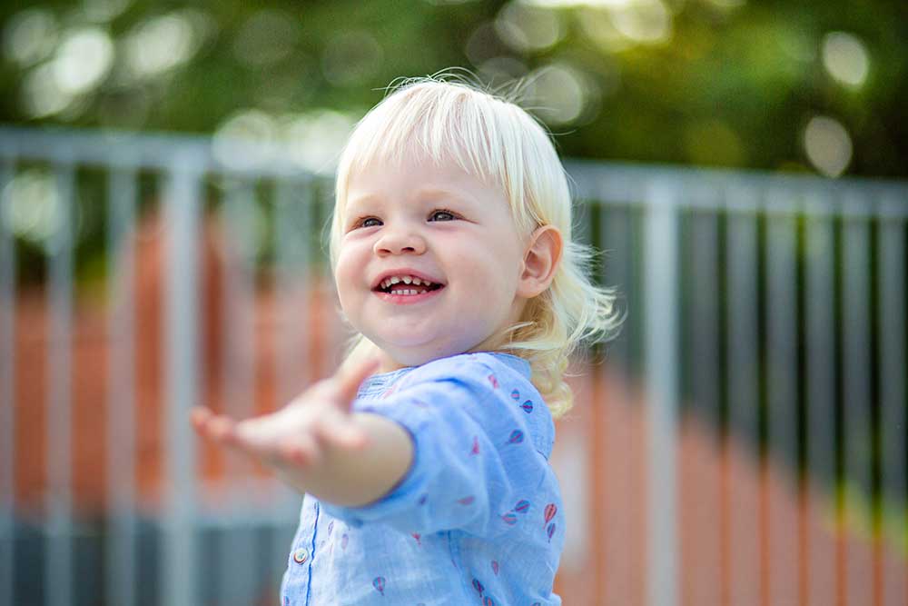
[[[494,537],[515,523],[515,512],[526,511],[545,478],[548,461],[533,445],[529,419],[548,409],[517,373],[462,358],[354,409],[398,422],[410,433],[414,457],[379,501],[361,507],[323,503],[353,526],[383,522],[407,532],[459,529]]]

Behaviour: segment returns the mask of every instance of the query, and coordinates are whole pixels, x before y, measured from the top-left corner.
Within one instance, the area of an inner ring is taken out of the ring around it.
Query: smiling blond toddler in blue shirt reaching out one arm
[[[408,79],[350,135],[335,194],[340,370],[269,415],[192,419],[304,494],[281,603],[560,604],[553,418],[569,354],[620,321],[546,130],[475,84]]]

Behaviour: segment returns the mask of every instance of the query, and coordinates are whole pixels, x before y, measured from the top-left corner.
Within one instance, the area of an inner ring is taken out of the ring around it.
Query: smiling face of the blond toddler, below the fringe
[[[457,164],[408,157],[350,179],[335,278],[350,323],[390,357],[382,370],[484,349],[526,303],[522,258],[504,192]],[[444,287],[391,296],[376,287],[387,272]]]

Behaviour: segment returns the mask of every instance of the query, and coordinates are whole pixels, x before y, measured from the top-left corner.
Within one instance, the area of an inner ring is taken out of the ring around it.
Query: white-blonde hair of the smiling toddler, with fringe
[[[517,84],[511,94],[518,92]],[[548,131],[507,95],[449,81],[440,73],[403,79],[363,116],[341,152],[329,243],[332,275],[351,175],[372,162],[397,162],[410,149],[438,165],[456,162],[486,184],[501,187],[521,240],[541,225],[561,232],[561,262],[552,283],[527,302],[518,323],[493,339],[496,351],[528,361],[533,384],[558,419],[573,405],[565,382],[572,376],[567,373],[571,354],[579,343],[613,338],[624,318],[616,317],[615,290],[588,277],[596,252],[573,240],[568,174]],[[345,349],[344,363],[351,363],[377,346],[356,333]]]

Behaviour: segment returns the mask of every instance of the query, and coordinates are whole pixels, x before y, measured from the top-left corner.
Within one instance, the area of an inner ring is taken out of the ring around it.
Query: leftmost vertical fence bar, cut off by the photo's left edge
[[[0,164],[0,606],[15,604],[15,233],[9,187],[15,164]]]

